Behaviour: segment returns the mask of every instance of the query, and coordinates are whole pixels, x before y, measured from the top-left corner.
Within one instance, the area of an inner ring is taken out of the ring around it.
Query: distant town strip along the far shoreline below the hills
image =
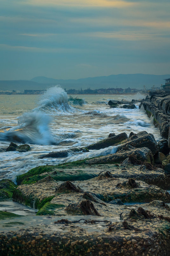
[[[149,91],[156,91],[156,90],[160,90],[160,87],[153,87],[151,89],[147,89],[145,86],[142,90],[139,89],[131,89],[130,87],[126,88],[126,89],[122,89],[122,88],[100,88],[100,89],[91,89],[90,87],[88,87],[87,89],[64,89],[66,91],[67,94],[119,94],[119,93],[137,93],[137,92],[142,92],[142,93],[147,93]],[[0,94],[42,94],[44,93],[46,90],[24,90],[24,91],[18,91],[18,90],[0,90]]]

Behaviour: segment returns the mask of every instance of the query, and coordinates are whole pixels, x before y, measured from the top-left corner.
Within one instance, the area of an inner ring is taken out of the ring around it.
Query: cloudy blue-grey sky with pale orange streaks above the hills
[[[169,74],[169,0],[0,0],[0,80]]]

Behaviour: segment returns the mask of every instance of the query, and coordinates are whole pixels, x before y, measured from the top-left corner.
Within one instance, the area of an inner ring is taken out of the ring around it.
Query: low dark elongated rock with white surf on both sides
[[[47,155],[40,156],[40,159],[46,158],[46,157],[52,157],[52,158],[63,158],[67,157],[72,152],[89,152],[87,148],[72,148],[68,150],[62,150],[62,151],[52,151],[48,153]]]

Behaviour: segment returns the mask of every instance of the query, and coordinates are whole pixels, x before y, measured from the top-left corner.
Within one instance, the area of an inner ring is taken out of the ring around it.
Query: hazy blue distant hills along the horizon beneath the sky
[[[21,90],[24,89],[46,89],[48,87],[60,84],[66,89],[99,89],[99,88],[135,88],[143,89],[143,85],[150,89],[153,85],[160,87],[164,84],[163,79],[169,78],[170,74],[148,75],[148,74],[118,74],[109,76],[97,76],[80,79],[53,79],[45,76],[37,76],[31,80],[0,81],[0,90]]]

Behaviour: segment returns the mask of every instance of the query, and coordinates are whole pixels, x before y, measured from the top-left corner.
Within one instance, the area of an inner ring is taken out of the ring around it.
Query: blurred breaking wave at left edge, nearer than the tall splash
[[[0,140],[48,145],[54,142],[49,130],[51,118],[43,112],[26,112],[18,117],[18,125],[0,129]]]

